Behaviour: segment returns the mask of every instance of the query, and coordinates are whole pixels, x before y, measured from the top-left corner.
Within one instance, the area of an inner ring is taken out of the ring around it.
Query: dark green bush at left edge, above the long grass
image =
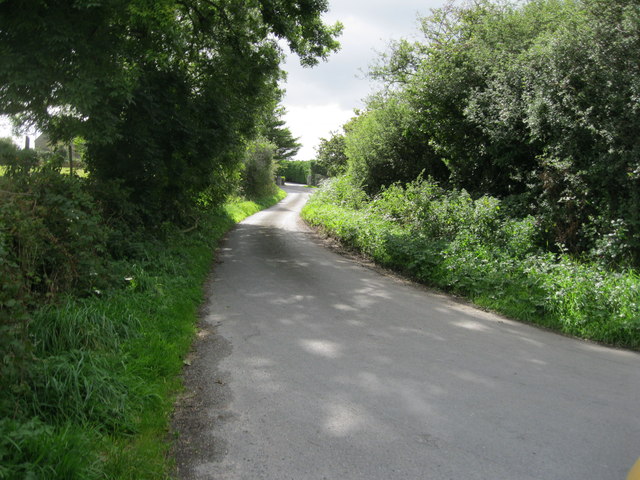
[[[33,294],[89,293],[102,281],[108,229],[78,177],[60,174],[60,158],[0,178],[5,261]]]

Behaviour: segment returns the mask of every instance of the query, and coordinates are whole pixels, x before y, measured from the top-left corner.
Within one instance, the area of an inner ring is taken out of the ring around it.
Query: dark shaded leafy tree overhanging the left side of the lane
[[[53,140],[81,136],[95,182],[120,185],[149,223],[180,219],[212,182],[224,194],[219,179],[277,97],[278,40],[307,66],[338,48],[341,26],[322,22],[326,9],[325,0],[6,0],[0,113]]]

